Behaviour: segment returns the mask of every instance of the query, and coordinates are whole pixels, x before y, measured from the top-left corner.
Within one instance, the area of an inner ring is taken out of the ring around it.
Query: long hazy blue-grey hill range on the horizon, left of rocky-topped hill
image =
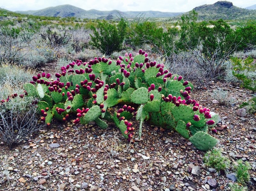
[[[114,18],[116,15],[124,15],[127,18],[136,17],[140,13],[144,13],[146,17],[174,17],[182,14],[182,12],[161,12],[161,11],[98,11],[95,9],[84,10],[73,5],[59,5],[48,7],[37,11],[15,11],[22,14],[50,16],[50,17],[77,17],[77,18]]]

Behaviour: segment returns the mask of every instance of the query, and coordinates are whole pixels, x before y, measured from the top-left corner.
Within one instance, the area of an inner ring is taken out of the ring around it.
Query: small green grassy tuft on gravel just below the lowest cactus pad
[[[206,152],[203,161],[206,166],[215,168],[217,172],[220,170],[227,170],[230,164],[230,160],[223,156],[221,149],[218,148],[214,148],[212,151]]]

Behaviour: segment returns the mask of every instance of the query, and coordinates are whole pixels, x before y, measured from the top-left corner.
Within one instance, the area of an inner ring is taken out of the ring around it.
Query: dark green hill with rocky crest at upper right
[[[234,6],[228,1],[218,1],[214,4],[205,4],[195,7],[199,20],[246,20],[256,19],[256,10],[248,10]],[[184,14],[188,14],[184,13]]]

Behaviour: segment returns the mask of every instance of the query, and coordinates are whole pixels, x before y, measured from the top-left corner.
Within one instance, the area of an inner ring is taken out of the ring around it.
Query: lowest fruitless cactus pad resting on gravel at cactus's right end
[[[199,150],[208,151],[212,149],[218,140],[203,131],[197,132],[189,138],[189,141]]]

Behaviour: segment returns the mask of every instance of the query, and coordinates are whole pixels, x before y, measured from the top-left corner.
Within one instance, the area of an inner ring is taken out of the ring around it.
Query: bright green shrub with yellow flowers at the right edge
[[[256,63],[252,57],[240,59],[237,57],[231,58],[233,64],[233,75],[242,81],[241,86],[256,92]]]

